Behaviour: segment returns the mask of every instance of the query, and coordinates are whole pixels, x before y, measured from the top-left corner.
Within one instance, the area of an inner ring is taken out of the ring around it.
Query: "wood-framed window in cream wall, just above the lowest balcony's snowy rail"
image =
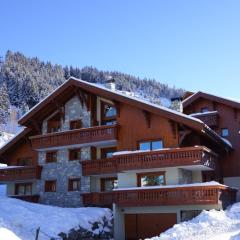
[[[165,185],[165,172],[139,173],[138,187]]]

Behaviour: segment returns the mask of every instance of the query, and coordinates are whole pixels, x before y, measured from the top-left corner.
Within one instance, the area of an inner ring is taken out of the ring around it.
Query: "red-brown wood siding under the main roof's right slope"
[[[162,139],[164,147],[177,147],[178,136],[168,119],[146,114],[138,108],[121,104],[118,133],[118,150],[135,150],[139,141]]]

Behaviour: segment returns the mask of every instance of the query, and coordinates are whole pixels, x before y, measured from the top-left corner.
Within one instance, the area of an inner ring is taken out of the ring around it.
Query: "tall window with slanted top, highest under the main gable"
[[[102,125],[116,124],[117,110],[109,103],[101,102],[101,118]]]

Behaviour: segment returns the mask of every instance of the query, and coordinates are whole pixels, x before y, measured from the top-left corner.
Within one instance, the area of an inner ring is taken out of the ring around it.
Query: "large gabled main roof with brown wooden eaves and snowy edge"
[[[56,106],[63,105],[67,100],[76,95],[76,89],[80,89],[86,94],[97,95],[116,103],[126,103],[134,107],[140,108],[150,113],[161,115],[172,121],[184,124],[194,129],[208,138],[211,138],[217,144],[224,147],[230,147],[222,138],[210,129],[201,120],[186,114],[171,110],[169,108],[150,103],[136,97],[127,96],[120,91],[112,91],[103,85],[89,83],[74,77],[70,77],[65,83],[59,86],[54,92],[48,95],[29,112],[27,112],[20,120],[19,124],[31,127],[34,121],[41,121],[49,114],[56,110]]]

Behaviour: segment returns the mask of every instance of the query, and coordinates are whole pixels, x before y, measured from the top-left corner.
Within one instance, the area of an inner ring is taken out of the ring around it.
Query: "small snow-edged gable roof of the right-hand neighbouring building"
[[[194,101],[196,101],[199,98],[208,99],[210,101],[214,101],[214,102],[218,102],[218,103],[222,103],[222,104],[231,106],[232,108],[240,109],[240,101],[238,101],[238,100],[234,100],[234,99],[230,99],[230,98],[223,98],[223,97],[219,97],[219,96],[212,95],[209,93],[204,93],[204,92],[194,93],[194,94],[190,95],[189,97],[187,97],[186,99],[184,99],[182,102],[183,107],[185,108],[185,107],[189,106],[191,103],[193,103]]]

